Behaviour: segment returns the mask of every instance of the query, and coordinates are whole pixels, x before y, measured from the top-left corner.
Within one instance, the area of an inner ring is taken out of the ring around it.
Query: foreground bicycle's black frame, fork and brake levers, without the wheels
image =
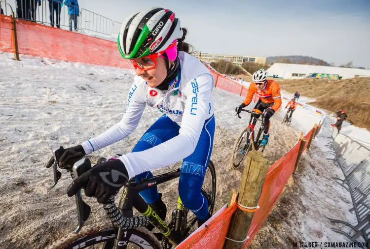
[[[54,164],[53,164],[53,171],[54,171],[54,183],[52,187],[54,187],[58,180],[61,177],[61,172],[58,171],[57,165],[58,160],[60,156],[62,155],[64,148],[60,146],[58,149],[54,150],[53,156],[54,156]],[[118,154],[117,154],[118,155]],[[89,158],[92,158],[94,164],[102,162],[107,160],[104,157],[99,156],[86,156],[84,160],[79,160],[74,163],[74,166],[71,170],[71,177],[74,179],[74,177],[78,177],[79,175],[83,174],[87,170],[91,169],[91,162]],[[187,234],[189,230],[191,229],[191,226],[194,225],[196,222],[196,218],[190,222],[190,225],[188,225],[184,231],[181,231],[181,222],[183,221],[183,215],[184,212],[182,212],[185,208],[184,205],[180,199],[180,196],[178,197],[178,208],[176,212],[176,220],[174,222],[175,229],[174,232],[171,231],[171,229],[168,227],[167,223],[163,221],[159,216],[155,213],[155,211],[148,205],[148,203],[140,196],[139,192],[145,189],[148,189],[150,187],[157,186],[159,184],[171,181],[175,178],[180,177],[181,169],[176,169],[161,175],[153,176],[151,178],[145,178],[142,179],[139,182],[135,182],[134,179],[131,179],[123,188],[123,192],[119,201],[118,207],[114,204],[114,196],[111,196],[111,199],[106,203],[106,206],[104,207],[107,215],[111,218],[112,225],[114,227],[115,232],[115,239],[114,239],[114,245],[113,241],[105,242],[103,245],[104,249],[126,249],[127,243],[131,237],[131,229],[144,226],[142,225],[142,219],[136,218],[133,216],[133,207],[135,207],[136,210],[138,210],[143,216],[147,217],[147,222],[149,221],[152,223],[158,230],[160,231],[163,236],[165,236],[169,243],[171,243],[173,246],[177,246],[182,241],[183,237],[182,234],[178,234],[177,232],[184,232],[183,234]],[[201,190],[202,193],[206,195],[206,192]],[[76,207],[77,207],[77,215],[78,215],[78,226],[74,230],[75,233],[79,232],[82,228],[84,222],[87,220],[87,218],[90,215],[90,206],[86,204],[82,200],[81,196],[81,189],[78,190],[78,192],[75,194],[75,200],[76,200]],[[111,203],[110,203],[111,202]],[[104,205],[103,205],[104,206]],[[117,211],[114,211],[114,208],[118,209]],[[112,213],[115,212],[115,213]],[[118,215],[119,214],[119,215]],[[115,219],[113,219],[115,218]],[[122,220],[122,218],[129,218]],[[131,218],[131,219],[130,219]],[[134,219],[132,219],[134,218]],[[122,222],[124,222],[124,226],[122,226]],[[119,224],[115,225],[115,224]],[[148,224],[148,223],[146,223]],[[181,235],[181,236],[180,236]],[[139,243],[139,242],[138,242]],[[143,242],[141,242],[143,243]]]

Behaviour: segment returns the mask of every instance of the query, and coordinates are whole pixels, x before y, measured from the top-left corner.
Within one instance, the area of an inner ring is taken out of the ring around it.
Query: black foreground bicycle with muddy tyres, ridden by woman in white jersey
[[[59,150],[59,153],[58,153]],[[61,177],[57,165],[63,147],[54,151],[55,163],[54,184],[56,185]],[[121,156],[120,154],[116,154]],[[91,168],[91,162],[98,164],[107,159],[99,156],[84,156],[74,163],[71,176],[74,179]],[[113,158],[111,158],[113,159]],[[103,208],[111,222],[98,222],[83,227],[84,222],[90,215],[90,206],[87,205],[81,196],[81,189],[75,194],[75,201],[78,214],[78,226],[64,237],[58,239],[47,249],[171,249],[180,244],[189,234],[196,229],[196,216],[185,208],[180,197],[177,199],[177,208],[173,210],[171,221],[167,224],[159,218],[156,211],[140,196],[139,192],[149,187],[168,182],[180,176],[181,169],[142,179],[135,182],[131,179],[123,188],[122,196],[119,199],[118,207],[114,202],[114,195],[109,201],[103,204]],[[208,211],[212,215],[216,197],[216,171],[210,160],[206,170],[202,193],[208,200]],[[139,211],[142,216],[133,216],[133,208]],[[150,232],[145,228],[152,223],[159,233]]]

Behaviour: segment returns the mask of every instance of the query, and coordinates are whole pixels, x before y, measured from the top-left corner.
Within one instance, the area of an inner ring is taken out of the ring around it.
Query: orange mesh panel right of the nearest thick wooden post
[[[262,193],[259,197],[259,210],[255,212],[251,226],[248,231],[249,239],[244,243],[247,248],[268,214],[274,207],[288,179],[294,171],[294,165],[299,151],[300,141],[287,154],[277,160],[269,169],[263,183]]]

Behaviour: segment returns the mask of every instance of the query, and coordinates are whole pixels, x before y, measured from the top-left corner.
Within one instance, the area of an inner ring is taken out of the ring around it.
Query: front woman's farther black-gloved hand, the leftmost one
[[[74,163],[86,155],[82,145],[77,145],[71,148],[64,149],[63,155],[58,159],[58,166],[62,169],[72,168]],[[54,164],[54,156],[46,163],[46,168],[50,168]]]

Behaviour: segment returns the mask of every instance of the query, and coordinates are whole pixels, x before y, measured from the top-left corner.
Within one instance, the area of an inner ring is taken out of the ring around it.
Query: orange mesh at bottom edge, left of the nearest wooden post
[[[226,208],[217,218],[211,221],[206,228],[193,234],[176,249],[222,249],[232,214],[236,210],[236,203]]]

